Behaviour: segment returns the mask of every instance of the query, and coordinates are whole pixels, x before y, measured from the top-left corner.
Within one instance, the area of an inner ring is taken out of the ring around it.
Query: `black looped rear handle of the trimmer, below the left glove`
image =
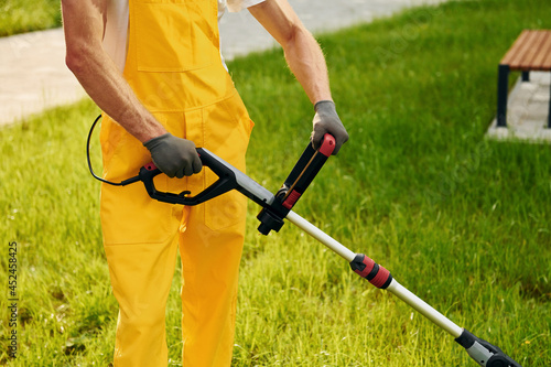
[[[197,154],[199,155],[203,165],[209,168],[218,176],[218,180],[195,196],[188,196],[191,194],[188,191],[184,191],[180,194],[158,191],[155,188],[155,184],[153,183],[153,179],[162,172],[153,162],[142,166],[138,177],[143,182],[148,194],[152,198],[170,204],[193,206],[209,201],[210,198],[222,195],[230,190],[237,188],[238,183],[234,168],[224,164],[223,161],[215,158],[215,155],[206,149],[197,148]]]

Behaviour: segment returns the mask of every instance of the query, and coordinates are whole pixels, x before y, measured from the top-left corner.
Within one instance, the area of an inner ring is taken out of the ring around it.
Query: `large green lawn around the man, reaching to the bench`
[[[295,211],[522,366],[543,367],[551,149],[484,139],[497,63],[525,28],[551,28],[547,0],[452,2],[322,35],[350,141]],[[248,172],[276,190],[307,142],[312,108],[279,51],[230,69],[257,123]],[[84,154],[96,115],[85,100],[0,130],[0,279],[14,240],[21,346],[11,360],[2,344],[0,364],[111,360],[117,304]],[[233,366],[475,366],[452,337],[292,225],[258,235],[258,211],[250,204]],[[176,366],[177,279],[176,270],[168,309]],[[2,343],[7,319],[2,301]]]

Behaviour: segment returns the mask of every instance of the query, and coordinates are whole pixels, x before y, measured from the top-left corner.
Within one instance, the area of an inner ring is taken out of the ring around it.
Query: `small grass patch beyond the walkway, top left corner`
[[[0,36],[62,25],[60,0],[0,1]]]

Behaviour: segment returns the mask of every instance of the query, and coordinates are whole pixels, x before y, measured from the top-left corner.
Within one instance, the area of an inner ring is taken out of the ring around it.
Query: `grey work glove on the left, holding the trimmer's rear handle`
[[[169,177],[182,179],[199,173],[203,168],[201,158],[191,140],[176,138],[172,133],[159,136],[143,143],[151,152],[156,168]]]

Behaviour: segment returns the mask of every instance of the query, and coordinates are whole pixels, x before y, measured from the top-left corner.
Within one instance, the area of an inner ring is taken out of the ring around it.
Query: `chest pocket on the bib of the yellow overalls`
[[[140,72],[187,72],[218,56],[216,0],[136,0],[131,11]]]

